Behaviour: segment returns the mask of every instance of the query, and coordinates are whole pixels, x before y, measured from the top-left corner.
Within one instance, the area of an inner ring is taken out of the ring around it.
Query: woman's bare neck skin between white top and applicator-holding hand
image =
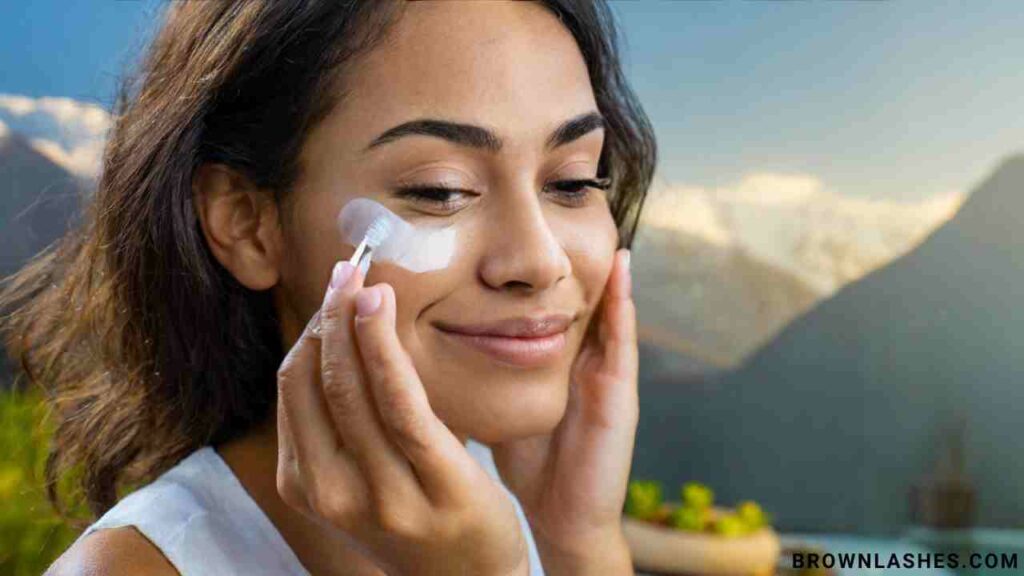
[[[465,435],[456,436],[466,444]],[[216,451],[311,575],[384,576],[384,570],[353,547],[340,530],[314,522],[281,499],[275,416],[245,436],[217,446]]]

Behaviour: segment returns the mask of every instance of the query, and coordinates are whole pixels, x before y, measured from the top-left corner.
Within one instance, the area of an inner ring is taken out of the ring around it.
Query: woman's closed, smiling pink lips
[[[502,364],[535,368],[557,360],[565,347],[566,331],[575,317],[551,315],[511,318],[486,324],[435,323],[453,340],[481,352]]]

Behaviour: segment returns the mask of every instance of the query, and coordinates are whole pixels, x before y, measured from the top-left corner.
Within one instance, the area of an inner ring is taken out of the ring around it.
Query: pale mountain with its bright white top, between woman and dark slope
[[[913,248],[963,201],[851,198],[810,176],[655,183],[634,244],[641,338],[728,367],[843,285]]]

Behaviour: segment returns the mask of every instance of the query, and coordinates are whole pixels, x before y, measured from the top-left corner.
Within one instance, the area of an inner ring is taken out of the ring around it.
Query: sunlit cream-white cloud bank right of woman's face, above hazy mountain
[[[822,294],[910,250],[964,201],[957,192],[920,201],[862,198],[813,175],[770,172],[722,188],[656,186],[650,195],[643,227],[742,250]]]

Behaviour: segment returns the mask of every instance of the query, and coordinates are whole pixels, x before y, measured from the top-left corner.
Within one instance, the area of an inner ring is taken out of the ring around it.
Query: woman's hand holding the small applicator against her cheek
[[[512,500],[430,409],[394,290],[362,281],[335,266],[278,372],[281,497],[389,574],[528,574]]]

